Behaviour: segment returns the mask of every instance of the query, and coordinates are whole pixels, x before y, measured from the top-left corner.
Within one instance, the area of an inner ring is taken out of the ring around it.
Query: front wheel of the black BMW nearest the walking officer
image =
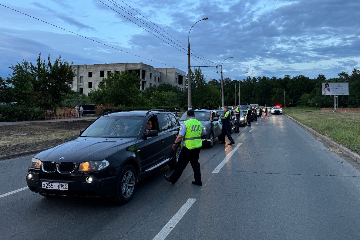
[[[119,174],[112,200],[117,204],[129,203],[136,189],[136,171],[133,166],[125,165]]]

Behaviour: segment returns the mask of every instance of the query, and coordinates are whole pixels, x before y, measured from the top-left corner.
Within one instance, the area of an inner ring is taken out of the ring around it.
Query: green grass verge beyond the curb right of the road
[[[360,154],[359,113],[321,112],[321,108],[301,107],[283,108],[283,112]]]

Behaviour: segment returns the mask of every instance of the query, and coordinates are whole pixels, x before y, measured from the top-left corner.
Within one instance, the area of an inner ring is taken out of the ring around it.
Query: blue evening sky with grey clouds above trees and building
[[[359,0],[0,0],[0,4],[2,77],[23,59],[35,62],[40,52],[53,60],[61,55],[75,65],[143,62],[187,72],[189,30],[206,17],[190,32],[191,65],[221,65],[232,56],[223,64],[224,77],[239,80],[248,72],[241,79],[285,74],[311,78],[324,74],[329,79],[360,68]],[[220,79],[220,70],[202,70],[207,80]]]

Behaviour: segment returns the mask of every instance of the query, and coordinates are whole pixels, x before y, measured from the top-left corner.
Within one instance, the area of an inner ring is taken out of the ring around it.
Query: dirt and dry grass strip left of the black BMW
[[[0,156],[40,152],[75,139],[94,119],[81,121],[31,122],[0,126]]]

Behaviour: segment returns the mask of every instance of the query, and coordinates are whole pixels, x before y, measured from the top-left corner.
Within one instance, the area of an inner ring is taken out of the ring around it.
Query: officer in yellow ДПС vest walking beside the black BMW
[[[186,117],[188,120],[181,124],[180,132],[172,145],[172,149],[175,150],[176,145],[181,142],[181,152],[176,169],[171,176],[164,175],[164,178],[166,181],[175,184],[190,161],[195,178],[195,181],[192,181],[192,183],[201,186],[199,154],[202,146],[201,135],[204,135],[206,131],[202,124],[195,119],[194,110],[189,109],[186,112]]]

